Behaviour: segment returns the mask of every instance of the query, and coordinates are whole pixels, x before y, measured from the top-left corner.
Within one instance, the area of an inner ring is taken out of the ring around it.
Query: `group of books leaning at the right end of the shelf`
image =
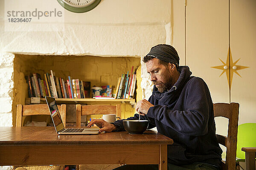
[[[119,77],[117,86],[116,86],[116,99],[132,99],[134,96],[135,85],[136,85],[136,71],[133,73],[133,66],[131,68],[131,75],[129,71],[127,74],[122,74]],[[133,74],[132,74],[133,73]]]

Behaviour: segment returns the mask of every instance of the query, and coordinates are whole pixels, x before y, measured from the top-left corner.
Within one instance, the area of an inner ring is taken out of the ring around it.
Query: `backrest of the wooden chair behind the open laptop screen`
[[[66,126],[66,105],[58,105],[58,110],[61,114],[61,119]],[[22,125],[22,116],[30,115],[50,115],[49,108],[47,104],[38,104],[38,105],[17,105],[17,114],[16,114],[16,127],[21,127]]]

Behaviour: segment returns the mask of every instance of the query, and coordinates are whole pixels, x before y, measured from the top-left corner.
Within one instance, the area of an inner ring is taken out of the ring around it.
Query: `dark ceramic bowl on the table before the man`
[[[148,120],[123,120],[125,130],[131,134],[142,134],[148,128]]]

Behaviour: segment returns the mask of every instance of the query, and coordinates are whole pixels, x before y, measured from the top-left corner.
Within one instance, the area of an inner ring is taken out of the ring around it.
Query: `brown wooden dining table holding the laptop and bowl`
[[[167,170],[167,144],[153,130],[57,135],[54,127],[0,127],[0,165],[159,164]]]

